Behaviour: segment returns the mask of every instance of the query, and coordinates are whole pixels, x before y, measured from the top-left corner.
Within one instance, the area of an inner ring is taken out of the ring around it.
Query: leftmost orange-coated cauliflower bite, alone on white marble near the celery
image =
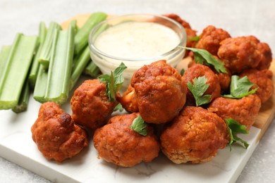
[[[88,144],[85,130],[74,125],[71,115],[54,102],[42,104],[31,131],[43,156],[59,163],[72,158]]]

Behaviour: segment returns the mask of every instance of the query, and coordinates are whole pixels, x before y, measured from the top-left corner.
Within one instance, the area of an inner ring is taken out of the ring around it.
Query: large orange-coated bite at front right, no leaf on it
[[[187,106],[161,133],[161,150],[173,163],[205,163],[228,143],[224,120],[200,107]]]

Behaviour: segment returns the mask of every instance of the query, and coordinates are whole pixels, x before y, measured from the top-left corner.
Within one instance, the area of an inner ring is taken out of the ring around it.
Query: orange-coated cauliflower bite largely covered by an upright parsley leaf
[[[204,94],[210,94],[211,100],[216,99],[216,97],[220,96],[221,93],[221,86],[219,84],[219,77],[215,75],[215,73],[206,65],[202,65],[199,63],[195,63],[192,65],[191,68],[188,68],[183,74],[183,80],[187,84],[188,82],[192,82],[196,77],[206,77],[207,78],[207,84],[209,84],[209,87]],[[194,96],[188,89],[187,93],[187,99],[188,101],[194,101]]]

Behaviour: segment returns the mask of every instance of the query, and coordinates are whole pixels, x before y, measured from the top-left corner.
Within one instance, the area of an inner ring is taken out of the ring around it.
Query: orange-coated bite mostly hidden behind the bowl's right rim
[[[178,15],[176,15],[176,14],[173,14],[173,13],[171,13],[171,14],[166,14],[166,15],[164,15],[164,16],[166,16],[166,17],[168,17],[168,18],[171,18],[171,19],[175,20],[176,22],[180,23],[181,25],[183,25],[183,28],[185,29],[185,32],[186,32],[186,37],[187,37],[187,39],[190,39],[190,38],[192,38],[192,37],[197,36],[197,31],[193,30],[193,29],[191,28],[190,24],[189,24],[188,22],[186,22],[185,20],[181,19],[180,16],[178,16]],[[195,41],[187,40],[187,42],[186,42],[186,46],[187,46],[187,47],[190,47],[190,48],[194,48],[194,47],[195,47],[195,44],[196,44]],[[189,53],[189,52],[190,52],[190,51],[185,50],[185,57],[188,56],[188,53]]]

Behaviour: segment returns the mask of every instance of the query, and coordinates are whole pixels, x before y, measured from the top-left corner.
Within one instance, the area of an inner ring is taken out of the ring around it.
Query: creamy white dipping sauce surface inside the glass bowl
[[[99,34],[94,46],[119,58],[147,58],[171,51],[181,42],[171,28],[158,23],[125,22]]]

